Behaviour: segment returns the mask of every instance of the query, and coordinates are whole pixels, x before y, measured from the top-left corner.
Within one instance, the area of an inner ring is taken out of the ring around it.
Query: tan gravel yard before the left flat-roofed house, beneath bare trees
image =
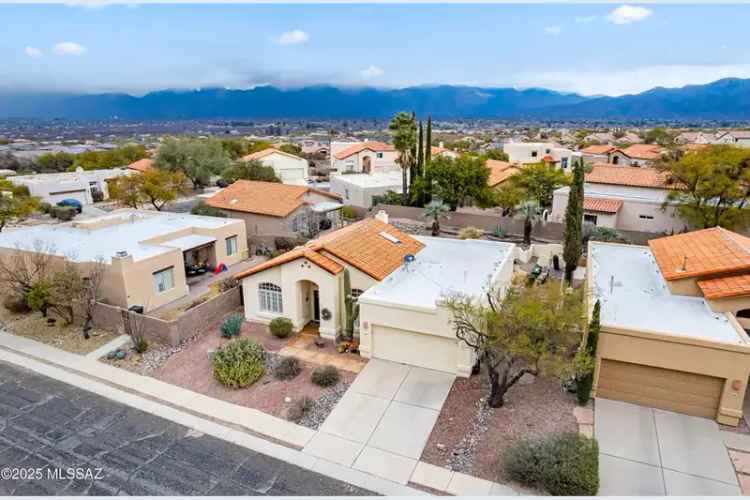
[[[117,336],[113,332],[95,328],[91,331],[91,338],[84,339],[80,325],[63,325],[59,320],[50,325],[42,313],[14,314],[2,306],[0,324],[10,333],[76,354],[88,354]]]

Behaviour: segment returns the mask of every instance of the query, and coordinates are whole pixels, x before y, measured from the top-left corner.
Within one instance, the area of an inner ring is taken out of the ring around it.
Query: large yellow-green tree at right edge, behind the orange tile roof
[[[671,189],[664,208],[677,203],[692,226],[743,229],[750,225],[750,150],[712,146],[662,164]]]

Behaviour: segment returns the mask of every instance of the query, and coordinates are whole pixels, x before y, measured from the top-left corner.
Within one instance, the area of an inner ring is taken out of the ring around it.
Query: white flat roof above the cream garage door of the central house
[[[365,291],[360,301],[435,309],[447,295],[479,295],[506,259],[513,258],[515,247],[486,240],[414,238],[425,245],[414,262],[402,264]]]

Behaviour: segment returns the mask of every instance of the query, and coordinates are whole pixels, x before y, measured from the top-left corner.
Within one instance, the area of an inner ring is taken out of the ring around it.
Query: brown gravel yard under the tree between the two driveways
[[[560,381],[537,377],[518,383],[506,394],[502,408],[488,409],[485,373],[453,384],[422,460],[466,472],[490,481],[507,482],[501,456],[523,438],[538,438],[562,431],[577,431],[575,396]]]

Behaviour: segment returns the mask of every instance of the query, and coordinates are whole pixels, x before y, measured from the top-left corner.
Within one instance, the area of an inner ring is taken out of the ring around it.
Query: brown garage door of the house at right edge
[[[714,419],[723,387],[716,377],[603,359],[596,395]]]

